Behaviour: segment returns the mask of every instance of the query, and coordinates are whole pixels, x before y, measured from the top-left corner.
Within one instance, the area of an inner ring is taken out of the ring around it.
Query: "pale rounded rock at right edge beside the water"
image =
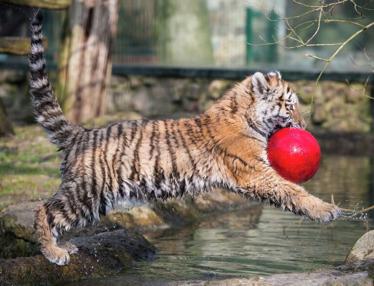
[[[374,259],[374,230],[366,232],[352,247],[345,263],[354,260]]]

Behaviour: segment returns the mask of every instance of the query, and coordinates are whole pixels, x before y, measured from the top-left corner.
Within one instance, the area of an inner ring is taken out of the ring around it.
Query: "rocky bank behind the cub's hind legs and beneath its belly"
[[[37,237],[33,227],[33,209],[41,202],[25,202],[10,205],[0,213],[0,258],[15,258],[39,254]],[[258,207],[256,205],[255,213]],[[60,237],[66,241],[74,237],[92,236],[102,231],[113,231],[121,227],[136,228],[142,232],[148,229],[165,229],[183,225],[205,213],[225,212],[233,208],[249,208],[254,203],[242,195],[230,192],[212,191],[192,198],[176,198],[151,204],[127,203],[118,205],[101,222],[83,229],[71,229]],[[252,209],[251,209],[252,210]],[[258,215],[253,216],[256,220]]]

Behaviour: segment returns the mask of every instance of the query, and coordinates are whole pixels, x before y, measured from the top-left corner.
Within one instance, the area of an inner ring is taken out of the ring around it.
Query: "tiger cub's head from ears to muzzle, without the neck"
[[[298,98],[288,82],[282,80],[279,72],[250,76],[251,96],[254,97],[252,110],[253,124],[267,136],[278,128],[304,128]]]

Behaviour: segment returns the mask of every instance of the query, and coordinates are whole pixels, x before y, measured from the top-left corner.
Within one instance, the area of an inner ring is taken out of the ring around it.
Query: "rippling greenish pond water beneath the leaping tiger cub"
[[[373,158],[324,155],[305,188],[341,208],[374,205]],[[341,265],[356,240],[373,227],[374,212],[327,224],[258,205],[206,216],[177,229],[145,236],[159,249],[118,275],[69,285],[143,285],[194,279],[251,277]]]

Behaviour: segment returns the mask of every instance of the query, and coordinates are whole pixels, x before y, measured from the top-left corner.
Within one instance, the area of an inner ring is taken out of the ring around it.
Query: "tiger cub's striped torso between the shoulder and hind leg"
[[[212,186],[230,188],[227,182],[233,178],[221,179],[229,172],[217,142],[208,140],[212,131],[200,122],[206,120],[137,120],[87,130],[64,154],[61,189],[80,194],[72,196],[80,199],[75,204],[87,205],[98,219],[123,199],[166,199]]]

